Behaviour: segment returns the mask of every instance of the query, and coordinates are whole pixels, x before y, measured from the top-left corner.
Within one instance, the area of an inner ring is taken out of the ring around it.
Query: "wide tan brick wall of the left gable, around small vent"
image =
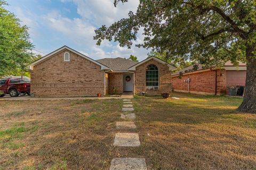
[[[75,53],[70,62],[63,61],[68,50],[52,56],[31,70],[31,93],[46,96],[104,95],[104,74],[101,67]]]

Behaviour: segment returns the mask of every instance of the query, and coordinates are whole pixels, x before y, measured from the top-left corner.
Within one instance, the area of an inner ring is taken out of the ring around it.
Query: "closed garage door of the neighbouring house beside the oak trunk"
[[[246,71],[227,71],[227,86],[245,86]]]

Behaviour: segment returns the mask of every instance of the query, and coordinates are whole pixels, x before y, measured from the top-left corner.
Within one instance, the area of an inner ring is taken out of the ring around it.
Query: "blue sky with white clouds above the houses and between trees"
[[[5,8],[14,13],[22,25],[27,25],[36,54],[44,56],[66,45],[94,60],[129,58],[131,54],[137,56],[139,61],[144,60],[149,50],[135,47],[135,44],[143,42],[141,31],[131,49],[107,40],[101,46],[95,45],[95,29],[127,18],[129,11],[135,12],[139,5],[139,0],[119,3],[117,7],[114,7],[113,2],[114,0],[7,0],[9,5]]]

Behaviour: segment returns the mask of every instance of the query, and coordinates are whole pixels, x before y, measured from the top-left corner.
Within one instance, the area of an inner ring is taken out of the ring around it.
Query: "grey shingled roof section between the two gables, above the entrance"
[[[108,66],[112,71],[128,71],[129,67],[138,63],[121,57],[103,58],[97,62]]]

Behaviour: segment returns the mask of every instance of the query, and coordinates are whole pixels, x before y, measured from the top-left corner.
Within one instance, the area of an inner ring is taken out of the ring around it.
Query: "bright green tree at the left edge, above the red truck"
[[[0,0],[0,76],[23,70],[33,60],[27,26],[4,5],[7,3]]]

